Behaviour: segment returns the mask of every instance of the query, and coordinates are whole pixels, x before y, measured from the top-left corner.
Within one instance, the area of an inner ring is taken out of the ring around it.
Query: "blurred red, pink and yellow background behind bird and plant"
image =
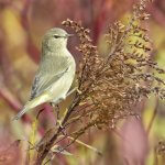
[[[31,123],[36,112],[31,112],[16,122],[11,119],[29,98],[45,31],[53,26],[64,28],[61,23],[67,18],[81,21],[85,28],[91,30],[94,44],[105,54],[102,36],[108,25],[131,16],[132,6],[138,0],[0,0],[0,164],[13,164],[13,161],[14,164],[25,164],[26,143],[18,148],[20,161],[11,150],[11,155],[8,153],[10,156],[7,156],[4,163],[3,151],[16,139],[26,142],[32,133]],[[154,0],[148,4],[147,12],[151,14],[147,28],[153,40],[153,58],[165,69],[165,0]],[[78,61],[76,45],[76,37],[68,43],[72,54]],[[81,140],[101,150],[102,156],[74,144],[69,148],[74,156],[57,154],[54,164],[164,165],[164,156],[156,160],[154,153],[157,142],[165,139],[164,106],[163,101],[151,97],[139,109],[143,120],[130,118],[119,124],[116,131],[89,130]],[[48,125],[54,124],[51,108],[47,105],[44,107],[47,110],[44,112],[46,117],[41,117],[36,139],[43,135]]]

